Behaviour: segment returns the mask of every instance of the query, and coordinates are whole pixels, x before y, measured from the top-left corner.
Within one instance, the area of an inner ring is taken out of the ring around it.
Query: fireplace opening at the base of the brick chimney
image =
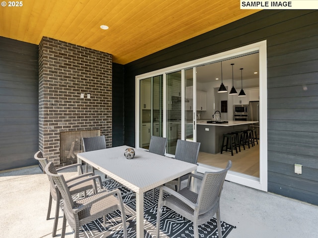
[[[60,132],[60,164],[77,163],[77,154],[84,152],[83,137],[99,136],[100,130],[80,130]]]

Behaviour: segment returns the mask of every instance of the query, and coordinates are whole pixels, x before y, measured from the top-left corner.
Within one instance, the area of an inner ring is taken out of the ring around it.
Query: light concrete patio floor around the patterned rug
[[[52,237],[56,203],[53,201],[47,221],[49,181],[38,166],[0,173],[0,191],[1,238]],[[62,220],[61,212],[57,238],[61,237]],[[318,236],[318,206],[228,181],[221,197],[221,220],[237,227],[228,238]],[[66,238],[73,237],[68,226]]]

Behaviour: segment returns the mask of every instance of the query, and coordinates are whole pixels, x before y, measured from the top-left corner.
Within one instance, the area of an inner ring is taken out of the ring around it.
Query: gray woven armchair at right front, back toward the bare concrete
[[[222,238],[220,197],[224,179],[231,166],[232,162],[229,161],[225,170],[220,172],[206,172],[203,177],[189,174],[187,187],[180,191],[174,191],[166,186],[162,186],[158,200],[157,237],[159,237],[160,231],[161,207],[166,206],[193,222],[194,238],[199,238],[198,226],[209,221],[216,213],[219,238]],[[190,190],[191,177],[202,179],[199,193]],[[163,199],[163,192],[169,193],[170,195]]]

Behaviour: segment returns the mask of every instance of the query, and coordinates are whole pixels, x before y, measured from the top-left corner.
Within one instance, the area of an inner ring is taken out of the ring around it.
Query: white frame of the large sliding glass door
[[[165,127],[166,127],[166,99],[165,99],[165,74],[173,71],[182,70],[189,67],[196,67],[198,65],[206,64],[216,60],[223,60],[226,58],[235,57],[242,54],[247,54],[249,52],[259,52],[259,118],[260,118],[260,127],[259,127],[259,137],[260,137],[260,146],[259,146],[259,179],[243,175],[237,172],[229,171],[226,179],[233,181],[242,185],[253,187],[259,190],[267,191],[267,42],[266,40],[256,42],[247,46],[239,47],[230,51],[222,52],[212,56],[204,57],[198,60],[192,60],[185,63],[173,65],[170,67],[162,68],[156,71],[148,72],[145,74],[137,75],[136,80],[136,147],[139,148],[139,113],[140,113],[140,89],[139,89],[139,80],[163,75],[163,136],[165,136]],[[195,97],[194,97],[195,98]],[[194,111],[196,112],[196,111]],[[196,113],[194,113],[196,116]],[[182,126],[183,127],[183,126]],[[184,130],[184,128],[183,128]],[[184,132],[183,132],[184,134]],[[204,173],[205,171],[218,171],[220,169],[214,168],[208,165],[199,165],[198,172]]]

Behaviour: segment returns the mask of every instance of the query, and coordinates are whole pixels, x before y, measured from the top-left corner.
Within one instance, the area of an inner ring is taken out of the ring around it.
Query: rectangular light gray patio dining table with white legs
[[[197,166],[135,148],[135,157],[126,159],[127,148],[132,147],[124,145],[79,153],[78,163],[84,161],[136,192],[136,237],[143,238],[144,192],[191,173]]]

